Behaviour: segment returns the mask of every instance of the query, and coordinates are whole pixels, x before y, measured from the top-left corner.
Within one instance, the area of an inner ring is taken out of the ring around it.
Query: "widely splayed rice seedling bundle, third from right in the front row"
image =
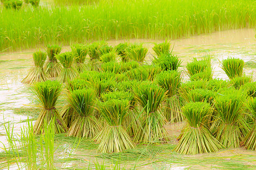
[[[205,126],[208,117],[212,114],[210,105],[204,102],[192,102],[181,110],[188,126],[175,147],[176,152],[189,155],[217,152],[221,145]]]

